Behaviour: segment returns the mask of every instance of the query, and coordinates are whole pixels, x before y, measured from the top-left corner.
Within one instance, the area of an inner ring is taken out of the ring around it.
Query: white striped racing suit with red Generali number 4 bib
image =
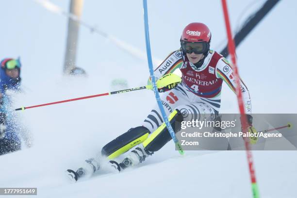
[[[225,81],[235,93],[236,84],[231,65],[222,55],[210,50],[202,66],[196,68],[180,50],[176,50],[155,69],[154,74],[159,79],[177,68],[182,73],[181,84],[161,97],[166,115],[178,109],[186,120],[215,120],[220,109],[222,82]],[[246,113],[251,114],[247,87],[242,81],[240,83]],[[156,105],[142,125],[154,132],[162,123],[163,117]]]

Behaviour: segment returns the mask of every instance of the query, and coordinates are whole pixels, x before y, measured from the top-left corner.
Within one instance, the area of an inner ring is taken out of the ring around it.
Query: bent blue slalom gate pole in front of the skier
[[[160,99],[160,95],[156,86],[156,79],[155,79],[155,75],[154,75],[154,69],[152,66],[152,59],[151,59],[151,51],[150,51],[150,42],[149,42],[149,32],[148,32],[148,3],[147,0],[143,0],[143,11],[144,11],[144,25],[145,25],[145,35],[146,35],[146,47],[147,47],[147,56],[148,56],[148,68],[149,68],[149,74],[150,74],[150,78],[151,78],[151,83],[153,86],[153,90],[154,90],[154,94],[159,106],[159,109],[161,111],[163,120],[165,121],[166,127],[168,129],[168,132],[170,133],[173,142],[175,143],[176,148],[178,148],[180,154],[182,155],[184,152],[181,148],[181,144],[179,143],[179,140],[177,139],[172,126],[169,122],[169,119],[165,113],[165,110],[162,106],[161,103],[161,99]]]

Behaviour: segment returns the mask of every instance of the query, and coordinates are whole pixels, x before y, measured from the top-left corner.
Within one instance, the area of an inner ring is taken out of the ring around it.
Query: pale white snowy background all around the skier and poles
[[[52,2],[68,10],[68,0]],[[263,2],[228,0],[232,29]],[[129,87],[146,84],[147,62],[84,28],[77,65],[88,78],[63,77],[67,19],[32,0],[1,1],[0,7],[0,58],[20,55],[22,61],[24,93],[16,96],[14,108],[115,91],[110,83],[116,78],[127,79]],[[253,113],[297,112],[296,8],[294,0],[279,2],[237,48]],[[151,0],[148,14],[152,54],[159,59],[179,48],[183,27],[194,21],[210,27],[213,49],[226,44],[219,0]],[[142,1],[88,0],[82,19],[145,51]],[[67,168],[76,168],[138,126],[154,104],[153,93],[140,90],[17,112],[33,147],[0,156],[0,187],[37,187],[38,198],[252,197],[245,151],[186,151],[180,156],[172,142],[138,168],[67,181]],[[236,97],[224,85],[221,113],[236,112]],[[297,198],[296,151],[253,151],[253,159],[261,197]]]

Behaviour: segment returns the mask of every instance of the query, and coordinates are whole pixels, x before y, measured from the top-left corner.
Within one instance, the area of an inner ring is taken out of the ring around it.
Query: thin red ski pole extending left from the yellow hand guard
[[[113,94],[126,93],[126,92],[130,92],[130,91],[141,90],[141,89],[149,89],[149,88],[147,86],[134,87],[134,88],[131,88],[131,89],[124,89],[124,90],[119,90],[119,91],[107,92],[107,93],[103,93],[103,94],[85,96],[85,97],[81,97],[81,98],[66,99],[66,100],[61,100],[61,101],[56,101],[56,102],[38,104],[38,105],[34,105],[34,106],[29,106],[29,107],[21,107],[21,108],[15,109],[15,111],[31,109],[31,108],[35,108],[35,107],[42,107],[42,106],[47,106],[47,105],[52,105],[52,104],[59,104],[59,103],[64,103],[64,102],[71,102],[71,101],[80,100],[80,99],[90,99],[90,98],[95,98],[95,97],[100,97],[100,96],[109,96],[109,95],[113,95]]]

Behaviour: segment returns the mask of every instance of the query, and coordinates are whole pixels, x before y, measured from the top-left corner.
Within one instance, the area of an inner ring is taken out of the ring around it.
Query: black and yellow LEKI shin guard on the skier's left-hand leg
[[[143,126],[131,128],[128,132],[123,133],[105,145],[101,150],[101,154],[109,159],[114,159],[127,152],[130,148],[142,143],[148,138],[149,133],[148,129]]]

